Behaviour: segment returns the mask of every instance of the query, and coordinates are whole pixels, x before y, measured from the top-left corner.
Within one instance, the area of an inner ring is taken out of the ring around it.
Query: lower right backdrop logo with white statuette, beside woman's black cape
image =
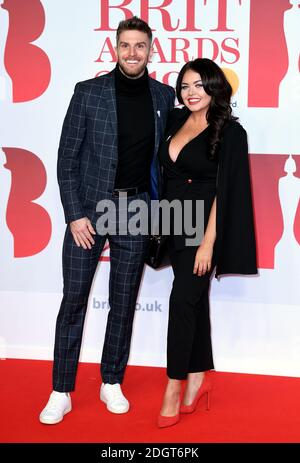
[[[259,268],[300,261],[300,156],[252,154]]]

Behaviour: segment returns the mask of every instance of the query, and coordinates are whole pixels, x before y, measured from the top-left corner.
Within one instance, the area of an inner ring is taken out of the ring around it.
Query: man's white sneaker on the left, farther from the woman
[[[63,420],[64,415],[72,410],[71,397],[68,392],[53,391],[46,407],[40,414],[40,422],[56,424]]]

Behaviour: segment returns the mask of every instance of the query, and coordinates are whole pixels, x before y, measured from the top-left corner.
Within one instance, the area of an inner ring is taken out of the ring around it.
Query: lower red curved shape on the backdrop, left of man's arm
[[[31,151],[2,148],[11,171],[11,190],[7,204],[7,225],[14,237],[14,257],[28,257],[41,252],[51,237],[48,212],[33,201],[47,184],[44,164]]]

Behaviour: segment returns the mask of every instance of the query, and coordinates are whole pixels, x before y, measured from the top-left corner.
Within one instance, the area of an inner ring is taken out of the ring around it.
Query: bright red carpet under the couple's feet
[[[214,372],[211,410],[202,398],[195,413],[158,429],[165,369],[129,366],[123,390],[131,410],[113,415],[99,400],[99,366],[82,363],[73,411],[47,426],[38,415],[51,392],[51,368],[46,361],[0,361],[1,443],[300,442],[299,378]]]

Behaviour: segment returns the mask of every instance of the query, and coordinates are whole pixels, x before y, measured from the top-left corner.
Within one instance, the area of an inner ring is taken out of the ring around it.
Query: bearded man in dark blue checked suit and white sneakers
[[[174,90],[150,78],[152,32],[137,17],[117,29],[117,65],[76,85],[61,134],[58,182],[67,229],[63,245],[63,300],[56,322],[53,392],[40,421],[56,424],[71,411],[82,330],[91,284],[106,239],[110,244],[110,311],[101,359],[100,399],[126,413],[121,390],[136,298],[149,237],[96,233],[96,206],[126,193],[128,201],[159,198],[157,151]]]

